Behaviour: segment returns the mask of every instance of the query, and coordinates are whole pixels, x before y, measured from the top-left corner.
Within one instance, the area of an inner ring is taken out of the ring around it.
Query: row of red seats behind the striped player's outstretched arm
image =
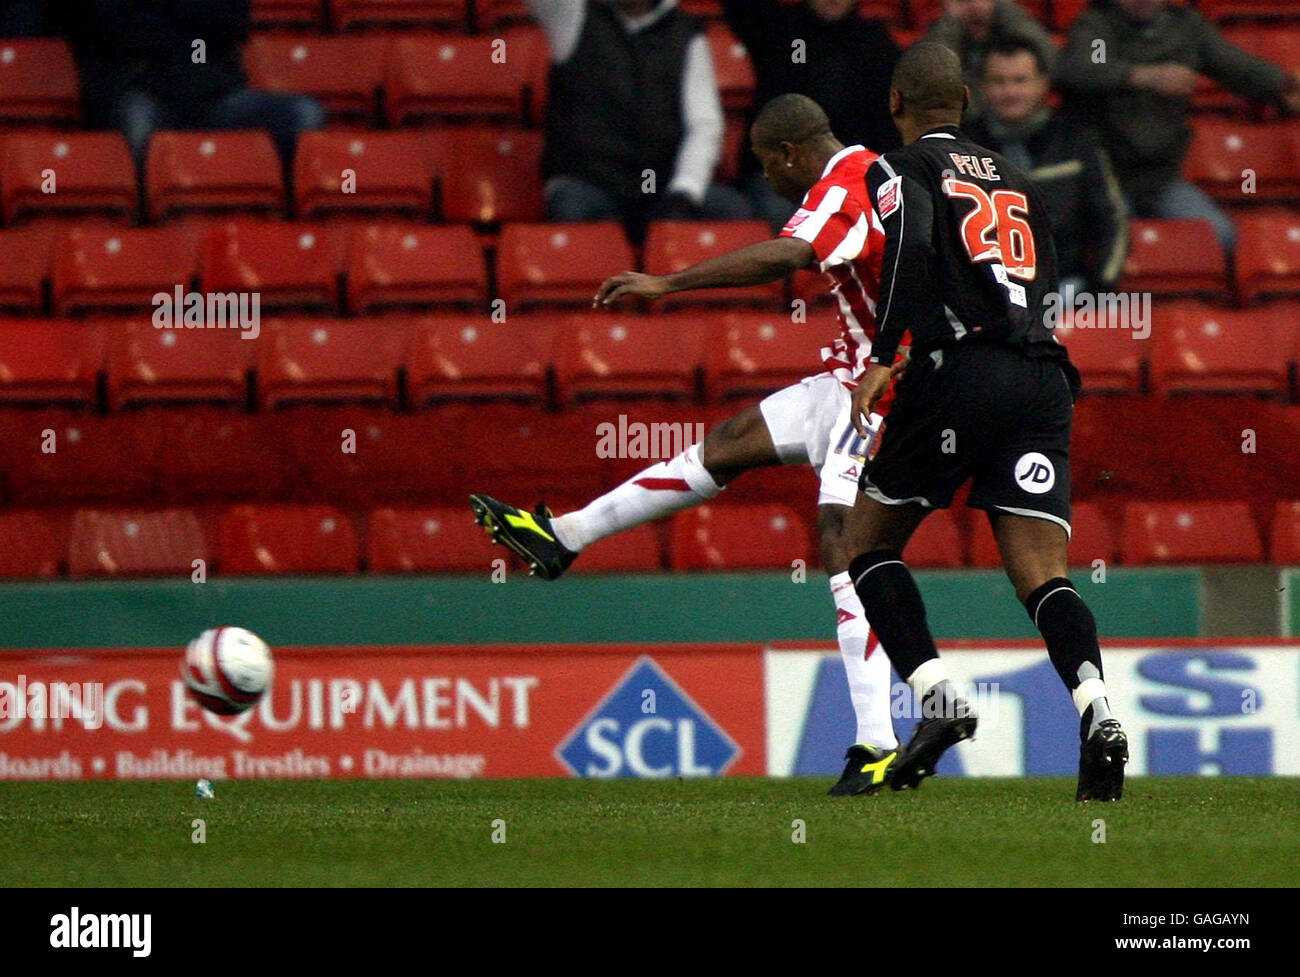
[[[659,222],[645,269],[660,274],[763,240],[759,221]],[[156,296],[191,286],[256,294],[263,312],[355,314],[393,308],[486,305],[482,246],[467,225],[218,220],[208,225],[79,225],[0,231],[14,261],[0,268],[0,307],[55,314],[157,308]],[[589,305],[608,275],[637,266],[618,223],[507,225],[495,248],[498,313]],[[692,292],[666,305],[775,305],[784,285]]]

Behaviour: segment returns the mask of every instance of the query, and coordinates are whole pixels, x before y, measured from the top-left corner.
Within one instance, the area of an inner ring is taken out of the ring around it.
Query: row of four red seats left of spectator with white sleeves
[[[139,188],[117,133],[25,131],[0,144],[0,213],[130,222]],[[261,131],[162,131],[146,161],[152,221],[244,212],[298,217],[391,212],[446,221],[542,217],[542,136],[515,129],[306,133],[286,199],[280,159]]]

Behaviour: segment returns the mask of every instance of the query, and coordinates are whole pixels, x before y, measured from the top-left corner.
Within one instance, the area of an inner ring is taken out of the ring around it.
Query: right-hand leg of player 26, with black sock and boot
[[[1079,711],[1075,800],[1119,800],[1128,738],[1110,715],[1097,622],[1065,576],[1065,530],[1046,520],[1001,513],[993,517],[993,533],[1015,594]]]

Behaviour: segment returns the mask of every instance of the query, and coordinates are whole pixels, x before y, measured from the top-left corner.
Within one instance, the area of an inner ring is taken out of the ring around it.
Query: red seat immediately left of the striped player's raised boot
[[[370,573],[477,573],[486,577],[494,560],[511,564],[506,547],[494,547],[469,507],[380,508],[370,512],[365,564]]]

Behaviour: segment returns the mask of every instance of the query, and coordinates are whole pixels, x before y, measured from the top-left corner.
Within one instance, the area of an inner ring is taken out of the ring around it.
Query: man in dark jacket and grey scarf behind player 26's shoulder
[[[980,88],[984,114],[967,135],[1024,169],[1043,191],[1061,291],[1108,291],[1128,249],[1128,210],[1096,134],[1052,110],[1048,66],[1028,42],[989,49]]]

